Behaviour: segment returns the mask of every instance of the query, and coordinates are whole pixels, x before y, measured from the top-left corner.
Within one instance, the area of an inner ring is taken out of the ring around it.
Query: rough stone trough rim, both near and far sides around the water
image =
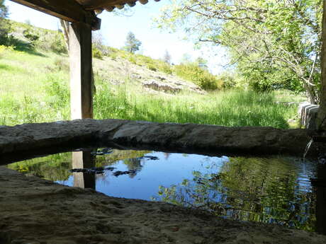
[[[302,156],[316,132],[127,120],[73,120],[0,127],[0,165],[101,144],[207,155]],[[321,145],[313,143],[310,156]],[[145,186],[146,187],[146,186]],[[108,197],[0,167],[0,243],[290,243],[326,236],[265,223],[220,219],[163,202]]]

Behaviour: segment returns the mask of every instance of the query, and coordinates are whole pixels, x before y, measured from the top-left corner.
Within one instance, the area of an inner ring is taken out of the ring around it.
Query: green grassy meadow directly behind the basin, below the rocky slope
[[[69,120],[67,54],[0,53],[0,125]],[[96,71],[95,71],[96,74]],[[210,91],[150,94],[130,78],[113,86],[95,76],[95,119],[147,120],[224,126],[296,127],[297,105],[304,98],[288,91]]]

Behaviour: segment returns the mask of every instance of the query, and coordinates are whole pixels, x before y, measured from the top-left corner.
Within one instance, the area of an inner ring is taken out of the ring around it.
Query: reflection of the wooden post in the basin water
[[[72,152],[72,169],[74,168],[94,168],[96,156],[88,151]],[[95,190],[95,173],[74,172],[74,187],[91,188]]]

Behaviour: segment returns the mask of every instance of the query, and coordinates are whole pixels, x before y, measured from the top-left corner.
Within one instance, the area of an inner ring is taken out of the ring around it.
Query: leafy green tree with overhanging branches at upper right
[[[174,0],[157,25],[225,47],[254,88],[304,90],[318,103],[321,18],[321,0]]]

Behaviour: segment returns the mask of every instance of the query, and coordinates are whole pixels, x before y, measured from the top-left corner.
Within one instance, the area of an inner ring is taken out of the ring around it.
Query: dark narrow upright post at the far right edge
[[[326,131],[326,1],[324,2],[324,13],[322,18],[322,50],[321,69],[322,83],[320,91],[320,108],[318,110],[317,127],[321,131]]]

